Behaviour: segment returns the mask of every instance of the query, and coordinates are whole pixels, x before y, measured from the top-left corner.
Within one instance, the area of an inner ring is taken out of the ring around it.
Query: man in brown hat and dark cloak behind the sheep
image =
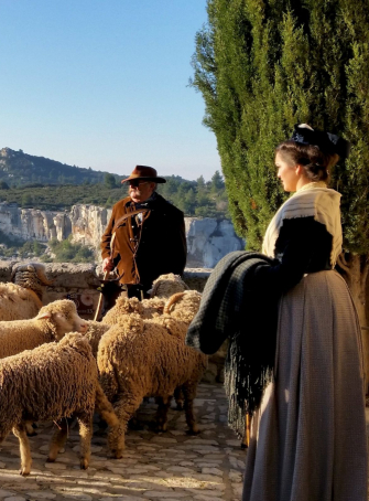
[[[182,275],[186,264],[184,214],[155,192],[165,182],[152,167],[137,166],[122,181],[129,196],[113,205],[102,235],[102,269],[117,267],[129,297],[141,298],[160,275]]]

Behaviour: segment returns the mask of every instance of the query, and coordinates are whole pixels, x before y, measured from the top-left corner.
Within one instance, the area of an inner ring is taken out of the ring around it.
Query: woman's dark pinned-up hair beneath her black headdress
[[[302,166],[311,181],[328,181],[329,169],[339,160],[336,153],[324,153],[318,146],[283,141],[275,148],[283,160],[291,166]]]

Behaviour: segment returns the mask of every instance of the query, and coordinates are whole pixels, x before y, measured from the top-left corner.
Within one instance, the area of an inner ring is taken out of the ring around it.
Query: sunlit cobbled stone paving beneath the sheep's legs
[[[174,407],[174,402],[173,402]],[[32,470],[19,475],[19,443],[13,435],[0,446],[1,501],[239,501],[246,451],[227,426],[221,384],[202,384],[195,401],[202,433],[186,435],[184,412],[171,408],[165,434],[151,430],[155,404],[143,403],[141,430],[129,430],[122,459],[109,458],[107,436],[95,425],[88,470],[79,469],[78,429],[69,431],[65,451],[47,463],[53,424],[40,425],[30,438]]]

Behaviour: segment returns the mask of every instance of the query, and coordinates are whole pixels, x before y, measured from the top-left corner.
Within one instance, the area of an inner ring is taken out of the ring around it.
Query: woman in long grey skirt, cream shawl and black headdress
[[[346,141],[296,126],[275,152],[295,192],[271,221],[260,287],[281,295],[273,381],[253,415],[242,501],[365,501],[360,326],[344,279],[340,195],[326,186]]]

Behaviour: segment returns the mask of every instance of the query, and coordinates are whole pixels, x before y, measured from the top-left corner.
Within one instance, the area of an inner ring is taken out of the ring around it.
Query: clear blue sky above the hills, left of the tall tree
[[[206,0],[0,0],[0,148],[127,174],[220,169],[188,87]]]

